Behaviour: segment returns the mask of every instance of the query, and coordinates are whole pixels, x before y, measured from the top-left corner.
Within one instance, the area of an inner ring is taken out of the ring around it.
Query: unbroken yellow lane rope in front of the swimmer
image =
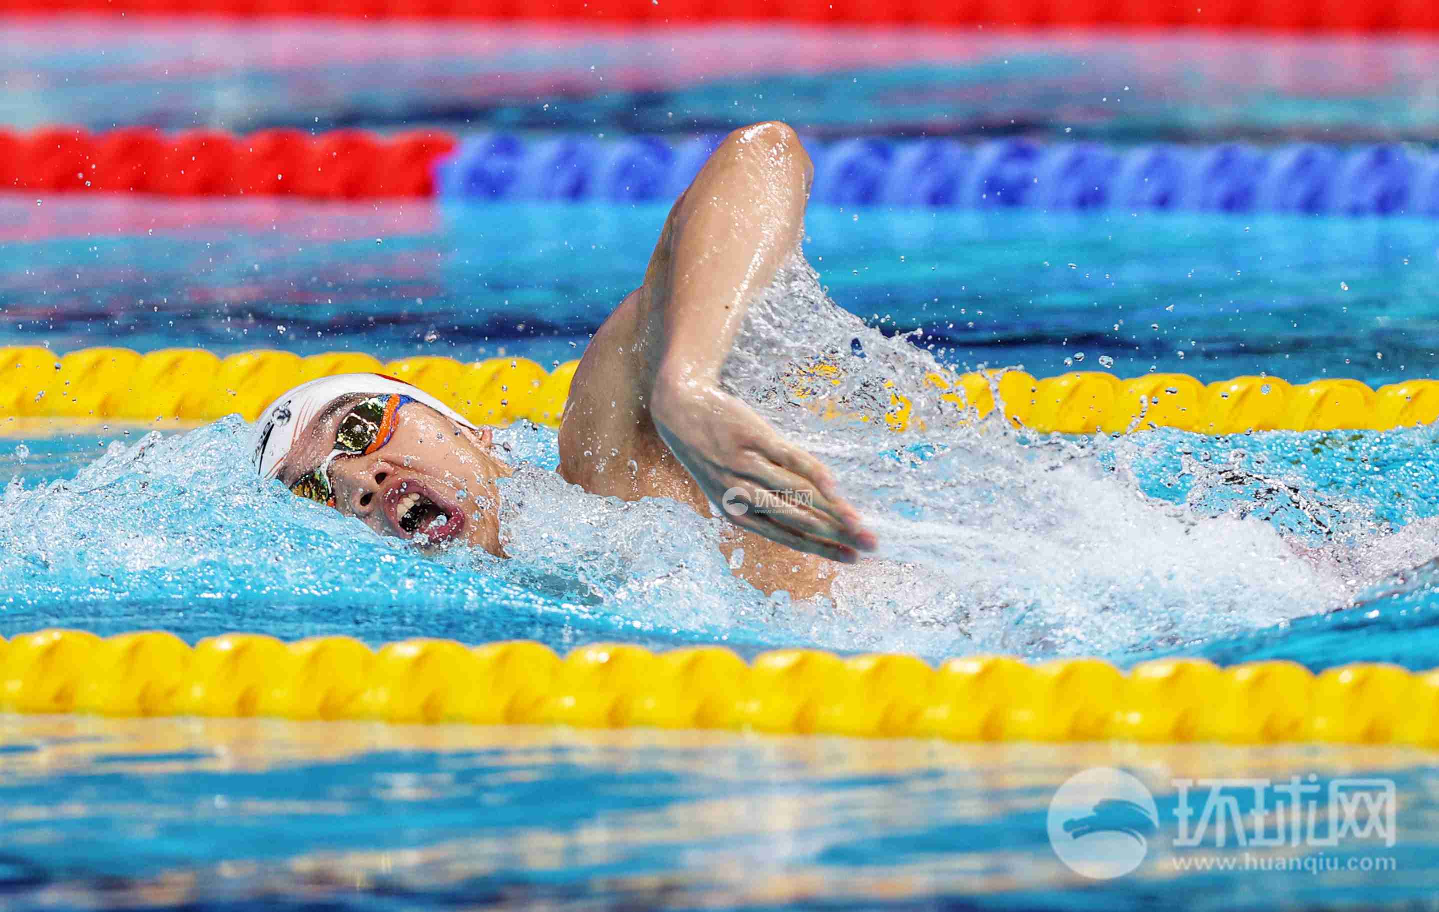
[[[0,711],[273,716],[410,724],[702,728],[951,741],[1439,745],[1439,670],[1202,659],[1026,663],[718,646],[652,653],[599,643],[473,649],[230,633],[194,647],[161,631],[42,630],[0,640]]]

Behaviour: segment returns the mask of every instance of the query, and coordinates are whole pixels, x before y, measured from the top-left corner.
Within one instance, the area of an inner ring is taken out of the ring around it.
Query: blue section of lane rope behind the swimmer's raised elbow
[[[669,200],[718,140],[484,134],[437,164],[436,186],[448,199]],[[843,140],[806,147],[814,200],[835,206],[1439,216],[1439,155],[1400,145]]]

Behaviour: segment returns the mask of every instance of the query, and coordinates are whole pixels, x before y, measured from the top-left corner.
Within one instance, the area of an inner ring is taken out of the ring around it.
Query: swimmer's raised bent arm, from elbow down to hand
[[[799,249],[813,165],[784,124],[732,132],[671,211],[645,276],[650,417],[712,503],[740,489],[809,492],[812,506],[725,516],[796,551],[852,562],[876,542],[814,456],[720,386],[754,295]]]

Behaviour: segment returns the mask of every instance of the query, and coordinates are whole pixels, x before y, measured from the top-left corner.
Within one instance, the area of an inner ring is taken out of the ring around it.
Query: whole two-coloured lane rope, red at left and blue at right
[[[458,138],[360,129],[89,134],[0,131],[0,188],[318,200],[433,197],[636,203],[675,199],[718,135]],[[814,200],[830,206],[1111,209],[1439,216],[1439,155],[1403,145],[1256,148],[1027,140],[809,141]]]

